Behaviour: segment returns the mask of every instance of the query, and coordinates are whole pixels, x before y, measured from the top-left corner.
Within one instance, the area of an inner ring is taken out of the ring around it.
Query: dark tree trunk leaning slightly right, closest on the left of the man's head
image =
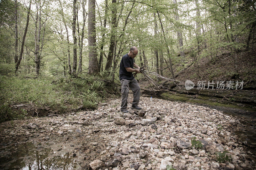
[[[113,61],[113,54],[115,48],[115,35],[116,35],[116,0],[112,0],[112,20],[111,20],[111,35],[110,35],[110,43],[109,43],[109,50],[108,50],[108,58],[107,63],[105,66],[105,70],[109,70],[112,61]]]

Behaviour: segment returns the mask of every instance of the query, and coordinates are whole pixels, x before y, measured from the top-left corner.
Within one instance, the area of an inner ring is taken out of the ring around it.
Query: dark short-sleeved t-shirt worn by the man
[[[132,72],[128,72],[125,67],[131,67],[133,69],[134,59],[125,54],[120,62],[119,79],[132,80],[134,77]]]

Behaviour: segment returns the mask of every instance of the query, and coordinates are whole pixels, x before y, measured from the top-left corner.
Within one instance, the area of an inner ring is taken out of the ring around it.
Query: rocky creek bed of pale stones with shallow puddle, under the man
[[[120,102],[1,123],[0,169],[256,169],[253,144],[235,133],[255,132],[255,121],[245,125],[209,107],[148,97],[140,101],[145,112],[123,114]],[[193,139],[203,148],[191,148]],[[231,160],[219,163],[224,151]]]

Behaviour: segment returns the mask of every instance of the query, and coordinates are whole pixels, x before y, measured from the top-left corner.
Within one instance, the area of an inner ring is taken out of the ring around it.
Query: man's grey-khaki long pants
[[[140,85],[139,85],[138,81],[135,78],[133,78],[132,80],[122,79],[122,80],[120,80],[120,82],[121,82],[121,86],[122,86],[121,111],[123,111],[127,107],[127,98],[128,98],[129,88],[133,92],[132,106],[138,106],[139,101],[140,101]]]

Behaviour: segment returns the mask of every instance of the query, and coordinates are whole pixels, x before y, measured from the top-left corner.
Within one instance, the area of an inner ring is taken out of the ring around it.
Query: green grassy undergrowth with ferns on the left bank
[[[64,114],[80,109],[96,109],[108,93],[102,78],[86,76],[84,78],[28,78],[0,75],[0,122],[19,119],[26,114],[26,108],[17,108],[17,104],[27,104],[31,108],[46,109]],[[41,110],[42,110],[41,109]],[[30,109],[31,111],[31,109]],[[33,115],[34,115],[34,110]],[[31,111],[31,112],[32,112]],[[37,114],[38,115],[38,114]]]

